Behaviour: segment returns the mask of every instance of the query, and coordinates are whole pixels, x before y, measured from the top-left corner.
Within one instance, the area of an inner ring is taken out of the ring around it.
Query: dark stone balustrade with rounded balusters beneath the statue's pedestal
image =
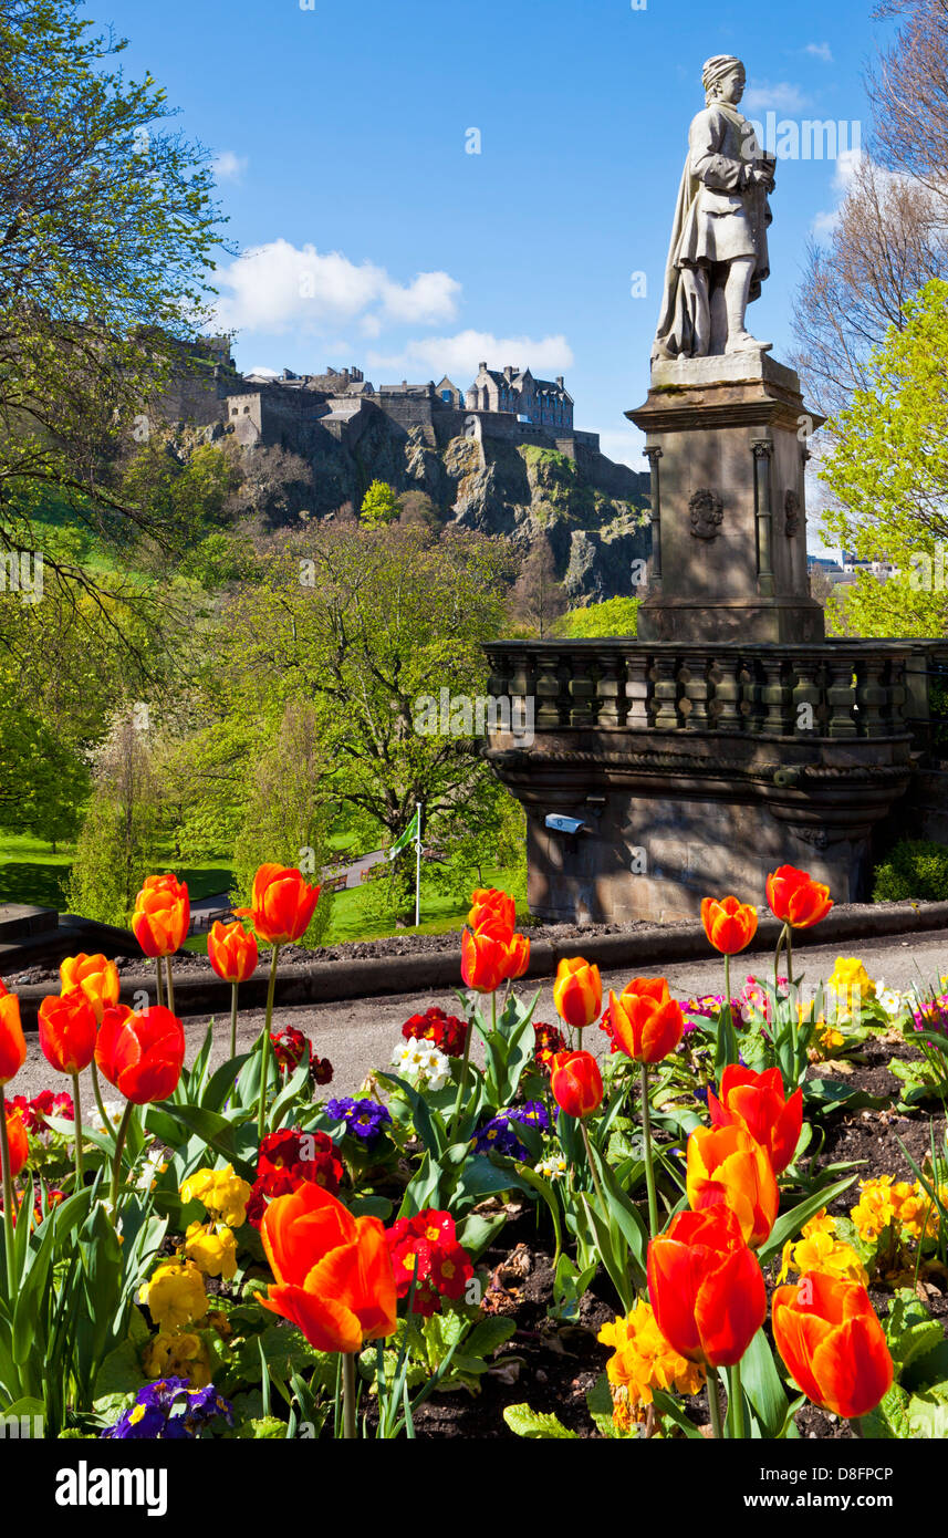
[[[535,731],[913,737],[948,641],[819,644],[495,641],[490,694],[533,698]]]

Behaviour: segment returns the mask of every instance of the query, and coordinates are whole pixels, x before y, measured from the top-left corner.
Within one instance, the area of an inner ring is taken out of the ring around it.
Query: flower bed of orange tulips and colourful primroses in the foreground
[[[784,867],[767,900],[767,977],[731,980],[756,909],[708,898],[721,995],[604,1000],[575,957],[536,1021],[513,903],[476,892],[456,1014],[413,1015],[338,1097],[270,1032],[318,887],[263,866],[212,930],[212,1072],[215,1027],[186,1066],[174,1010],[187,892],[149,878],[157,1003],[63,963],[29,1103],[0,995],[0,1415],[72,1440],[945,1436],[948,980],[899,997],[840,958],[808,989],[793,937],[830,894]]]

